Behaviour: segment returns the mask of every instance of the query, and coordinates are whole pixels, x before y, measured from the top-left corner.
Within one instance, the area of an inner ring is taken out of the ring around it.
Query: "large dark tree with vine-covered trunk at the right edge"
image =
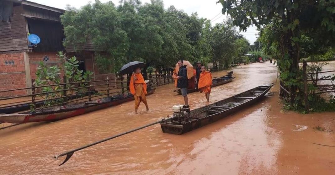
[[[254,24],[267,30],[267,44],[278,50],[280,77],[290,87],[291,104],[303,92],[299,70],[303,37],[319,48],[334,44],[335,1],[329,0],[220,0],[222,12],[231,15],[235,25],[246,31]],[[270,47],[269,47],[270,48]],[[299,95],[299,93],[298,93]],[[300,103],[300,102],[299,102]]]

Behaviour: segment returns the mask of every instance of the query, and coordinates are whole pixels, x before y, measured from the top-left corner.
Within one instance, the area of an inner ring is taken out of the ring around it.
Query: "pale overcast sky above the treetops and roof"
[[[65,9],[67,4],[80,8],[86,5],[89,0],[29,0],[39,4]],[[100,0],[101,2],[107,2],[109,0]],[[119,5],[120,0],[112,0],[116,5]],[[150,2],[150,0],[141,0],[142,3]],[[218,0],[163,0],[165,8],[174,5],[177,9],[182,9],[189,15],[193,12],[197,12],[199,17],[207,18],[212,21],[212,24],[222,22],[227,18],[226,15],[221,14],[222,5],[216,4]],[[91,2],[94,2],[92,0]],[[257,31],[255,27],[250,27],[247,32],[241,32],[246,39],[249,40],[250,44],[253,44],[257,39]]]

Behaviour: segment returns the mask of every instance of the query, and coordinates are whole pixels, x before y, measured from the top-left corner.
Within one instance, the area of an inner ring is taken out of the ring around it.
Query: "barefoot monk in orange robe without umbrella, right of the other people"
[[[212,74],[209,71],[206,71],[206,67],[201,67],[201,73],[199,78],[198,89],[199,92],[205,93],[207,102],[209,102],[209,94],[211,92],[211,85],[212,85]]]

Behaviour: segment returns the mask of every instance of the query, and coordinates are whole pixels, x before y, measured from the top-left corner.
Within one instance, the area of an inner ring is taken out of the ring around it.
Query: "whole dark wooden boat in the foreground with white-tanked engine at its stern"
[[[254,89],[190,111],[184,118],[160,123],[163,132],[183,134],[220,120],[228,115],[247,108],[261,100],[273,84],[258,86]]]

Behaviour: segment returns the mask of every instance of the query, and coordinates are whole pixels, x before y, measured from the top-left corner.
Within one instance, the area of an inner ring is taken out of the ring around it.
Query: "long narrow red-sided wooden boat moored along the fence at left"
[[[155,92],[155,88],[148,89],[148,95]],[[134,100],[134,96],[130,93],[120,94],[111,97],[105,97],[97,100],[91,100],[83,103],[44,108],[35,112],[23,112],[17,114],[0,115],[0,122],[8,123],[27,123],[41,121],[56,121],[88,112],[96,111],[110,106],[115,106],[124,102]]]

